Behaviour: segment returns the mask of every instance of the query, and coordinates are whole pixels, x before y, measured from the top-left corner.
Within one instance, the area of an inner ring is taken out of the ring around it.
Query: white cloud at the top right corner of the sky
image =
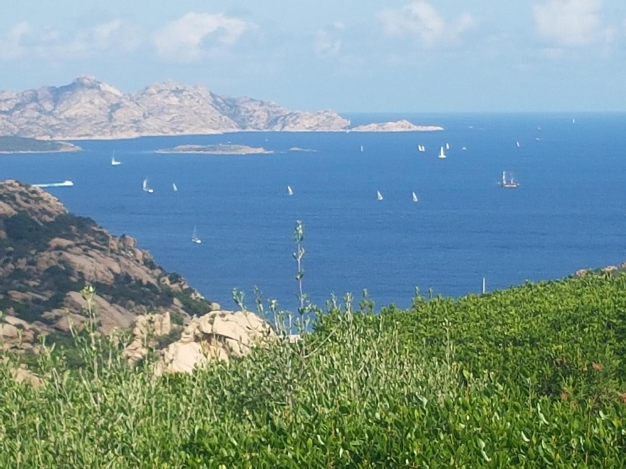
[[[533,14],[538,36],[558,46],[587,46],[605,36],[602,0],[546,0]]]

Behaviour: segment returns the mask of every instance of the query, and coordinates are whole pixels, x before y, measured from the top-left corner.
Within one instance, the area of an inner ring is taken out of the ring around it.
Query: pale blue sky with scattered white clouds
[[[626,1],[2,0],[0,70],[302,110],[626,111]]]

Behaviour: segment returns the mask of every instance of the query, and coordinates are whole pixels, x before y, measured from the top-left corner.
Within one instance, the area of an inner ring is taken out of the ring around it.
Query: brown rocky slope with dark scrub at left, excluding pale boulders
[[[103,333],[130,327],[138,315],[165,313],[183,321],[212,311],[135,239],[69,214],[41,188],[0,183],[0,346],[28,348],[38,334],[80,328],[87,320],[85,285],[95,287],[93,308]]]

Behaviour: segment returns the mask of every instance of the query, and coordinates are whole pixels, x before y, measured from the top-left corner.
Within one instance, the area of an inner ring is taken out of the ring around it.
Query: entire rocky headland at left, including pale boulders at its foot
[[[130,363],[157,351],[158,375],[227,361],[275,338],[254,313],[223,311],[163,270],[130,236],[69,214],[43,189],[0,183],[0,348],[39,353],[44,335],[47,345],[71,351],[71,332],[92,320],[101,335],[130,336],[123,351]],[[26,368],[10,371],[40,384]]]

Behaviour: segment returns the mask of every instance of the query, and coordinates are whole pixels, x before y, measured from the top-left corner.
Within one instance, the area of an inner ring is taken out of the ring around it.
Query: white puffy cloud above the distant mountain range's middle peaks
[[[153,35],[156,51],[178,61],[197,61],[237,43],[254,25],[234,16],[187,13],[170,21]]]

